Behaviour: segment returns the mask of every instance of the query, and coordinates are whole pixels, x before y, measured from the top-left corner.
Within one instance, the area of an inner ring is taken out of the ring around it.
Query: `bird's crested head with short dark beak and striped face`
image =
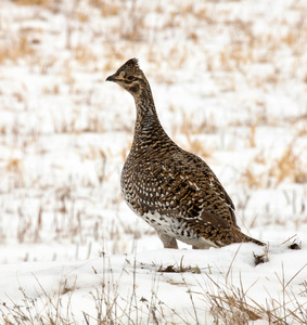
[[[137,58],[128,60],[114,75],[108,76],[106,81],[116,82],[130,92],[133,98],[140,95],[142,90],[145,90],[149,86]]]

